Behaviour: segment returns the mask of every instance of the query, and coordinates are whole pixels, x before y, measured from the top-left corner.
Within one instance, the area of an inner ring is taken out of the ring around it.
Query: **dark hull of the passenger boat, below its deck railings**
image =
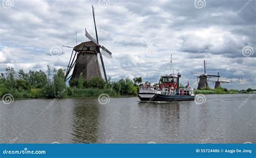
[[[138,97],[141,101],[192,101],[194,95],[163,95],[155,93],[139,93]]]

